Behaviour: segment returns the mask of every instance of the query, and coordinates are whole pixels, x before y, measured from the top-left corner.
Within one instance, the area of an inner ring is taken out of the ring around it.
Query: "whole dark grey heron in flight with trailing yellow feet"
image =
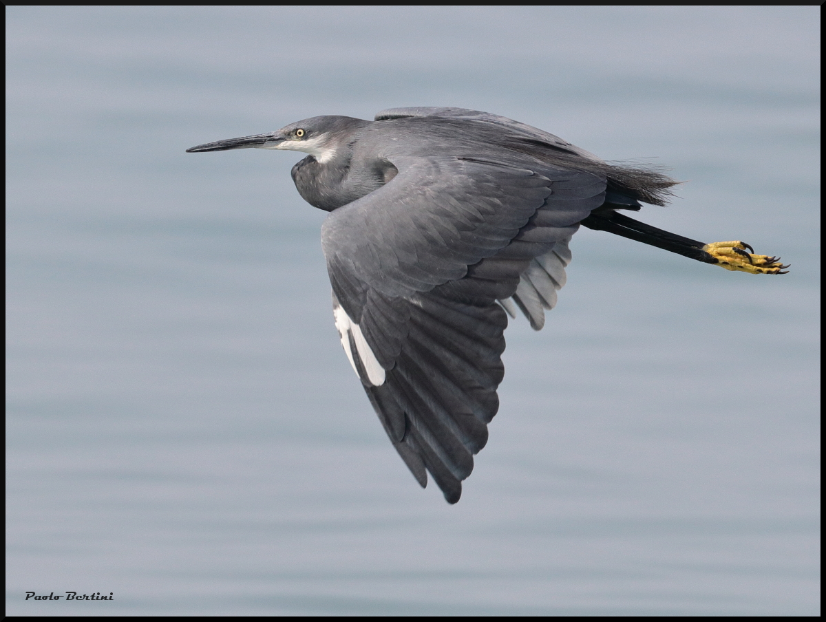
[[[518,307],[543,327],[580,225],[728,270],[788,268],[739,240],[704,244],[619,213],[664,205],[676,182],[487,112],[314,116],[187,151],[251,147],[308,154],[292,179],[330,212],[321,245],[344,353],[401,459],[449,503],[499,408],[507,316]]]

